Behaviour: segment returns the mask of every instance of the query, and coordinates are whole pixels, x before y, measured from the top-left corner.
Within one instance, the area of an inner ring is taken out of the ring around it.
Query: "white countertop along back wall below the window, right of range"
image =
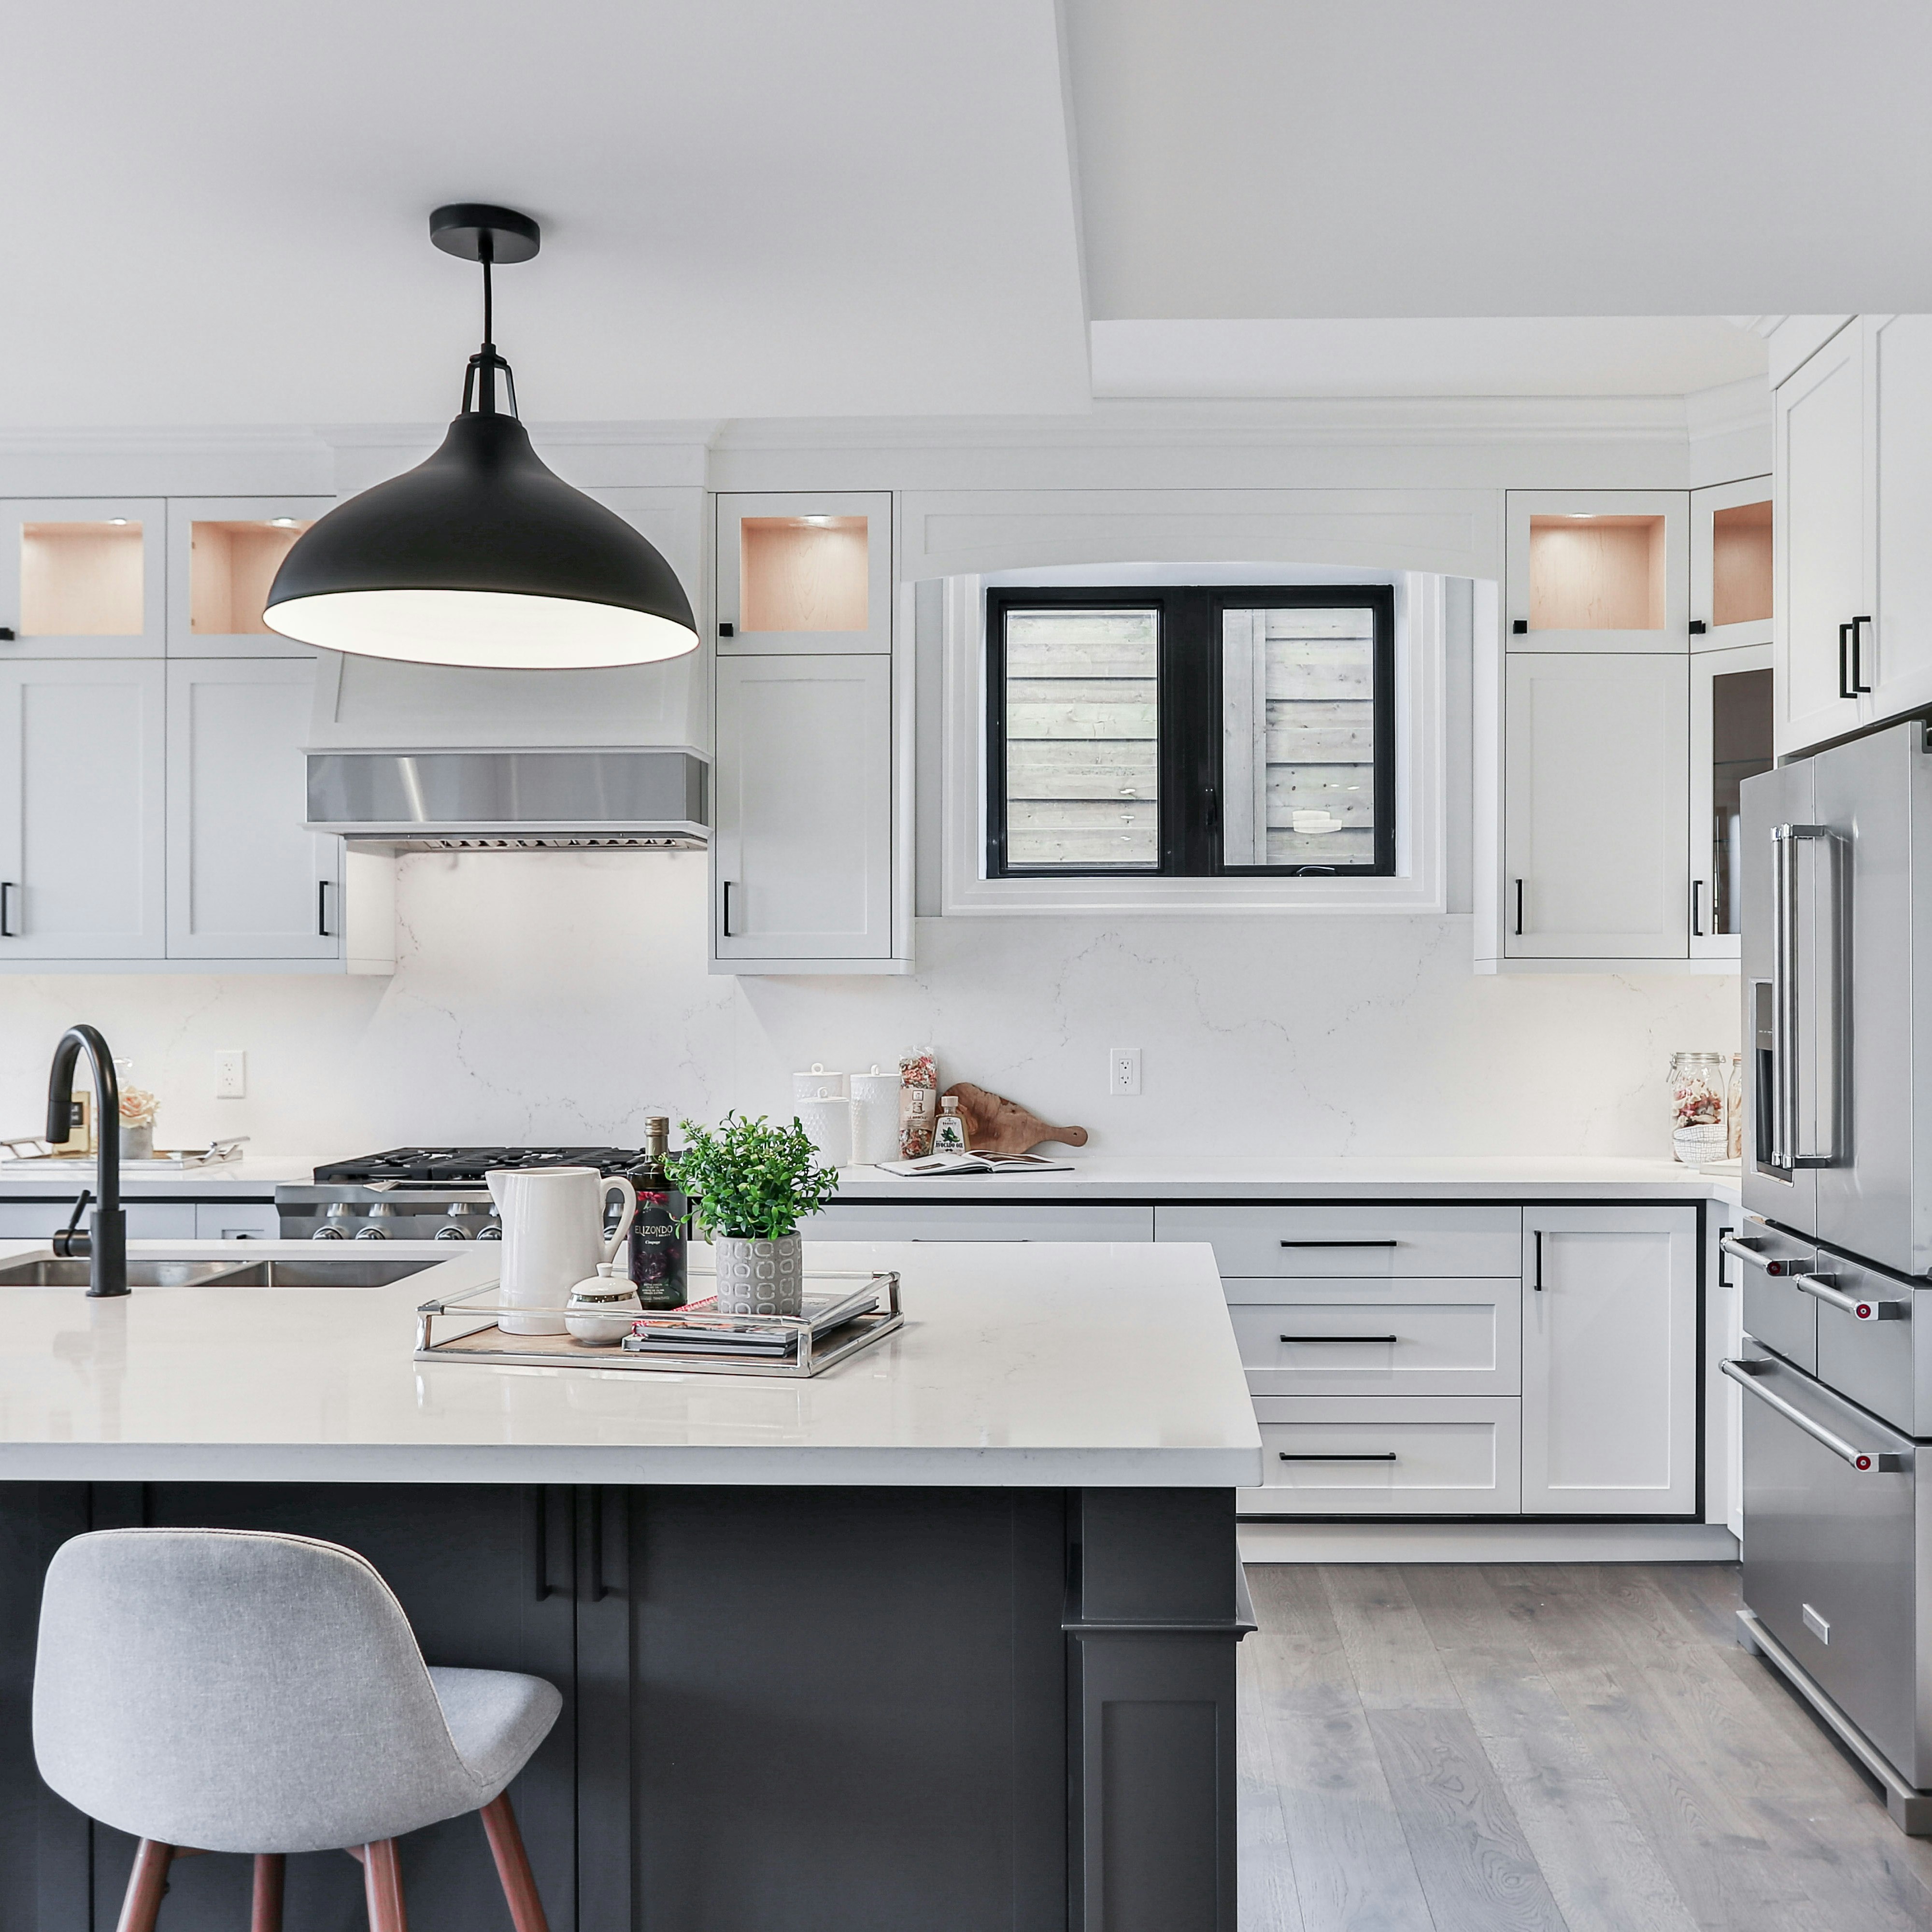
[[[1041,1153],[1059,1153],[1041,1148]],[[837,1202],[1186,1202],[1186,1200],[1704,1200],[1737,1192],[1737,1173],[1588,1153],[1329,1155],[1150,1159],[1070,1153],[1072,1173],[906,1179],[846,1167]]]

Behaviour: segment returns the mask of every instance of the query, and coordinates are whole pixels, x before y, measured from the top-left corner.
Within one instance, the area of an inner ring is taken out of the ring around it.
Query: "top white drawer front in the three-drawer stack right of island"
[[[1211,1240],[1223,1275],[1520,1275],[1520,1208],[1159,1208],[1155,1240]]]

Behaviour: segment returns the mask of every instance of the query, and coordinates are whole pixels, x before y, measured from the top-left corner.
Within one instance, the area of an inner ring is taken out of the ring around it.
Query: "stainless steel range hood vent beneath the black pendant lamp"
[[[692,752],[311,752],[311,833],[408,852],[703,850]]]

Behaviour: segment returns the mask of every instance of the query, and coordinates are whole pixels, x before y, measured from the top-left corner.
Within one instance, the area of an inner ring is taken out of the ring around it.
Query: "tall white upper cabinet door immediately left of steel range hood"
[[[342,842],[301,825],[313,682],[313,659],[168,665],[168,958],[342,951]]]

